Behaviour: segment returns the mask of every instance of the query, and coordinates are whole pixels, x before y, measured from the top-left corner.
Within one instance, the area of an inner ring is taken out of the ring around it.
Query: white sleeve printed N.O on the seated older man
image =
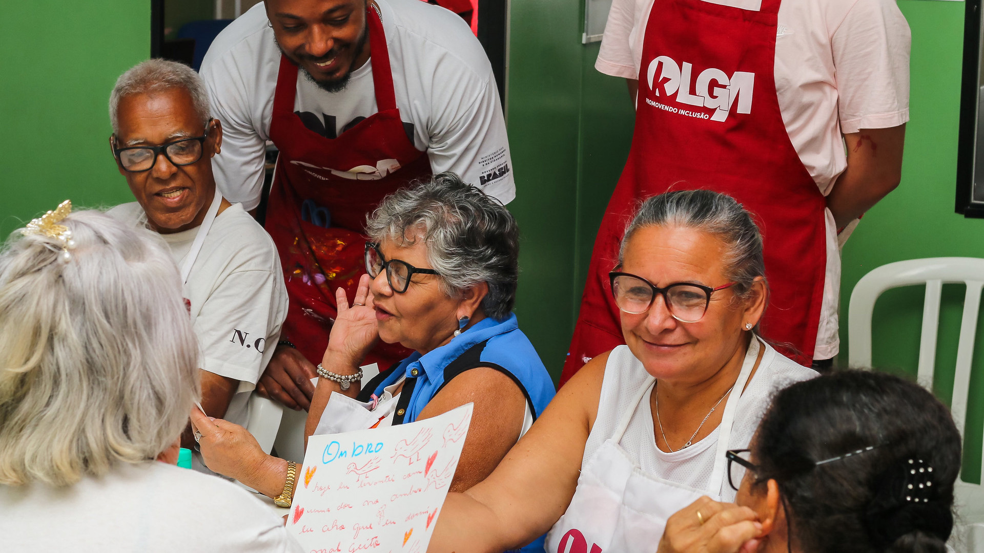
[[[286,303],[282,276],[273,271],[225,276],[195,319],[202,369],[256,384],[277,347]]]

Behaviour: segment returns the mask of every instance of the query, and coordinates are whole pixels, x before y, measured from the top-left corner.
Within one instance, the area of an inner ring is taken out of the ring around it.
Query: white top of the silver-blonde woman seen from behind
[[[220,478],[120,463],[72,486],[0,485],[4,551],[300,553],[272,510]]]

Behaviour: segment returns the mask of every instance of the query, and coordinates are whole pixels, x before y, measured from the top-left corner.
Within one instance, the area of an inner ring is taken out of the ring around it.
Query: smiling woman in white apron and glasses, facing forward
[[[609,275],[621,345],[584,366],[506,459],[449,494],[428,551],[502,551],[549,529],[549,553],[655,551],[670,515],[733,499],[771,394],[816,373],[759,338],[762,236],[707,190],[646,200]]]

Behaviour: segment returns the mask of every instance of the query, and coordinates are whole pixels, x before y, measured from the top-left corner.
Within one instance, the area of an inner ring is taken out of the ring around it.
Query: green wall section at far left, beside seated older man
[[[0,21],[0,236],[66,198],[131,199],[106,105],[116,78],[150,55],[151,3],[3,2]]]

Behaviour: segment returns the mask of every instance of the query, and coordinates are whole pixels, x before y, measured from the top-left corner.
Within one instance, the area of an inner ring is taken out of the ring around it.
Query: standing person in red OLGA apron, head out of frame
[[[837,230],[898,184],[909,42],[892,0],[614,0],[595,67],[629,80],[636,128],[561,382],[622,343],[607,281],[615,247],[635,205],[669,189],[724,192],[757,215],[762,336],[829,366]]]

